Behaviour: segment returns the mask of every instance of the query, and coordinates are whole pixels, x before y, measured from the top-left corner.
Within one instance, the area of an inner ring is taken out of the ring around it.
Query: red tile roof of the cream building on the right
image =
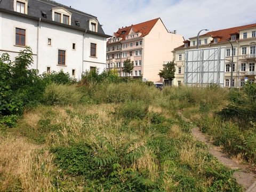
[[[206,33],[204,35],[200,35],[200,37],[209,36],[209,35],[212,36],[213,38],[218,37],[219,38],[218,43],[222,43],[222,42],[227,42],[227,39],[230,39],[231,35],[239,34],[239,30],[252,28],[252,27],[256,27],[256,23],[251,24],[251,25],[232,27],[232,28],[221,29],[221,30],[216,30],[216,31],[209,31],[208,33]],[[193,38],[195,38],[195,37],[193,37]],[[174,50],[181,49],[183,47],[184,47],[184,45],[181,45],[179,47],[176,47]]]

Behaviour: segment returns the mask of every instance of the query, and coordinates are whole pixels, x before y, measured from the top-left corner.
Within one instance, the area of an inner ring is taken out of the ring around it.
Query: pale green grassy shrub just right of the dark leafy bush
[[[83,94],[75,85],[48,85],[43,94],[43,101],[46,105],[71,105],[81,101]]]

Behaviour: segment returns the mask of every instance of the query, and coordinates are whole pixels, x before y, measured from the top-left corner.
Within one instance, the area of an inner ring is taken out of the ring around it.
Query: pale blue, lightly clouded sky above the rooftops
[[[186,39],[200,29],[256,23],[256,1],[241,0],[55,0],[98,17],[106,34],[120,27],[160,17],[166,28]]]

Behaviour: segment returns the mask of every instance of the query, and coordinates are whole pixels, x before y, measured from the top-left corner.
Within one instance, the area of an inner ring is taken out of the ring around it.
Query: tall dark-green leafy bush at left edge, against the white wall
[[[30,47],[21,51],[14,62],[9,55],[0,59],[0,115],[22,114],[25,107],[36,106],[42,100],[45,83],[38,71],[29,69],[33,63]]]

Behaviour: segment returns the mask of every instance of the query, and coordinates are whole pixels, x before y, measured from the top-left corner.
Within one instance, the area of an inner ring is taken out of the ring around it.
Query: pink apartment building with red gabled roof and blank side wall
[[[181,35],[170,33],[160,18],[119,28],[107,42],[107,68],[116,69],[122,77],[162,83],[158,73],[165,61],[172,60],[174,47],[183,41]],[[127,59],[134,62],[131,74],[122,71]]]

